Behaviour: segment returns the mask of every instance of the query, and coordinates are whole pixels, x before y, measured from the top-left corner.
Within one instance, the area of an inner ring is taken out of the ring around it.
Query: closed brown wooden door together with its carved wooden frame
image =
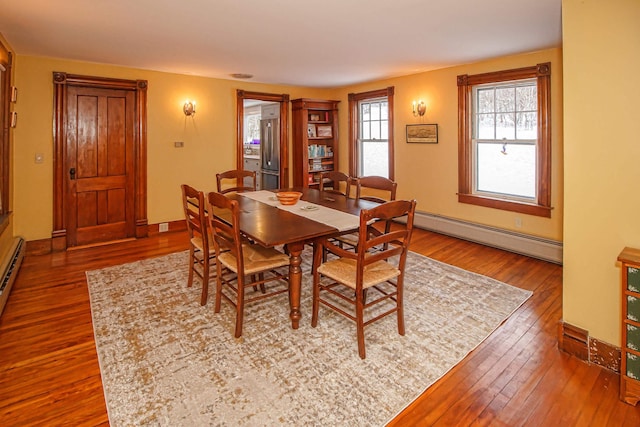
[[[144,80],[54,72],[52,249],[147,236]]]

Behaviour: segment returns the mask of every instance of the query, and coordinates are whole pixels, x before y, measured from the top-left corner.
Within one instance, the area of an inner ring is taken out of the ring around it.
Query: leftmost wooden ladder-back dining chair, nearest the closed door
[[[192,286],[194,274],[200,278],[202,281],[200,305],[205,305],[209,295],[210,268],[211,262],[215,259],[215,250],[206,219],[204,193],[187,184],[182,184],[182,204],[190,241],[187,286]]]

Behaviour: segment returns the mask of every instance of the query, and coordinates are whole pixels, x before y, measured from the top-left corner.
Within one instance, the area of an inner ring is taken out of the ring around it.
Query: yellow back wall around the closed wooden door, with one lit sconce
[[[292,99],[324,97],[327,91],[260,85],[101,64],[18,55],[18,126],[14,130],[15,232],[26,240],[51,237],[53,224],[54,71],[148,80],[148,219],[150,224],[182,219],[180,185],[215,189],[215,174],[235,168],[236,89],[282,94]],[[182,113],[185,99],[197,102],[194,118]],[[184,141],[175,148],[174,141]],[[44,162],[36,164],[36,153]]]

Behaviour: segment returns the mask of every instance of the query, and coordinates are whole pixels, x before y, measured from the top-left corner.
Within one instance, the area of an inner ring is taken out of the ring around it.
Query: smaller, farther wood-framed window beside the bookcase
[[[394,179],[393,87],[349,94],[349,174]]]

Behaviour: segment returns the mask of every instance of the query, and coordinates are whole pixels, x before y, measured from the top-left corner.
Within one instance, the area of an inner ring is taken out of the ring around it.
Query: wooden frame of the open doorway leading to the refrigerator
[[[261,102],[279,103],[279,122],[280,122],[280,169],[278,173],[278,186],[286,188],[289,186],[289,95],[287,94],[271,94],[261,92],[248,92],[238,89],[236,97],[236,119],[237,119],[237,137],[236,137],[236,165],[237,169],[247,169],[245,167],[245,142],[247,141],[247,129],[244,128],[245,120],[245,101],[254,100]],[[260,167],[260,166],[258,166]]]

